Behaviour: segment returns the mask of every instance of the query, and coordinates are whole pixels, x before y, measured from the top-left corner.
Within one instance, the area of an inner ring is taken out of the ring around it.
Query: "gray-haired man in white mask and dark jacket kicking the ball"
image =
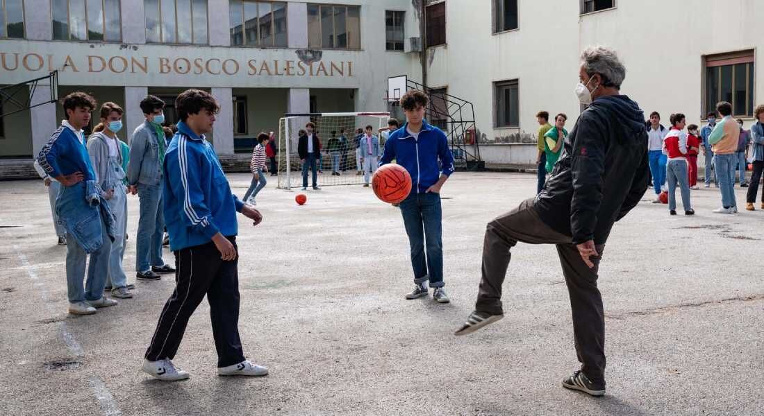
[[[616,53],[591,47],[581,53],[576,95],[589,107],[565,140],[545,189],[490,221],[484,237],[483,277],[475,311],[456,335],[503,318],[501,285],[518,242],[555,244],[568,285],[573,334],[581,370],[566,389],[605,393],[605,326],[597,266],[613,223],[647,190],[649,169],[643,111],[620,85],[626,68]]]

